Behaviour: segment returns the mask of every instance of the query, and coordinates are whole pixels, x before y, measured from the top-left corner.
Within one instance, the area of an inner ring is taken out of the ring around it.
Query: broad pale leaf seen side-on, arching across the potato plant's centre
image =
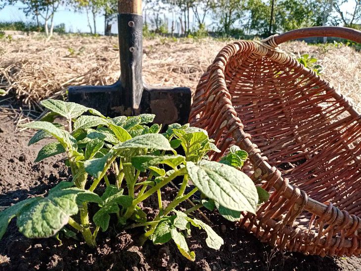
[[[145,134],[132,138],[124,143],[114,146],[115,150],[126,149],[157,149],[165,151],[174,151],[169,141],[160,134]]]

